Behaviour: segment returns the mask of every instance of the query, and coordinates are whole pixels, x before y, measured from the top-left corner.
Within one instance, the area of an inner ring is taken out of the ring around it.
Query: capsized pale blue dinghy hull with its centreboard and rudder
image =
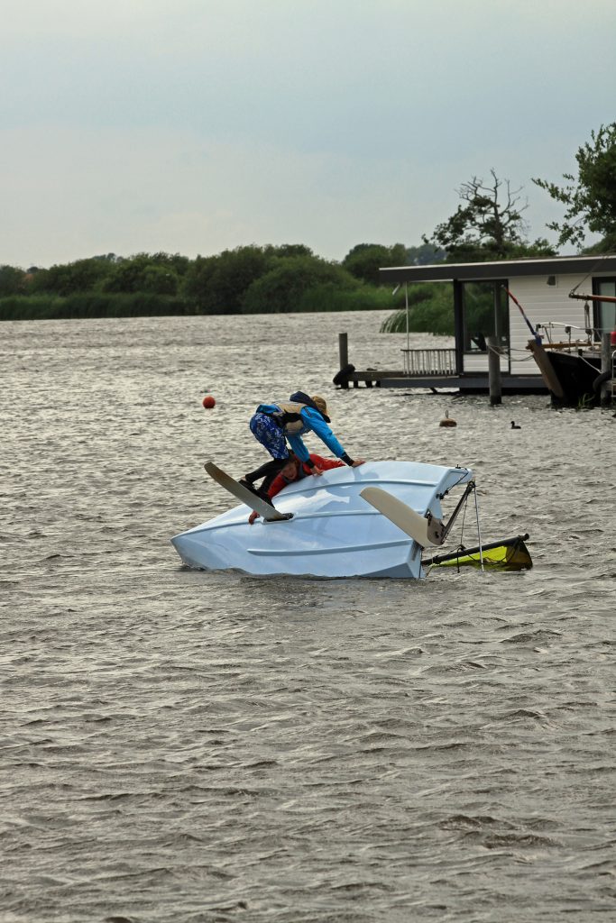
[[[223,474],[220,469],[210,462],[206,468],[223,484],[216,474]],[[459,487],[460,502],[443,523],[441,501]],[[419,462],[334,468],[320,477],[296,481],[275,497],[276,510],[291,513],[291,519],[260,518],[249,525],[254,504],[248,500],[175,535],[172,543],[192,568],[236,569],[263,576],[420,579],[426,576],[422,549],[443,543],[474,488],[468,468]]]

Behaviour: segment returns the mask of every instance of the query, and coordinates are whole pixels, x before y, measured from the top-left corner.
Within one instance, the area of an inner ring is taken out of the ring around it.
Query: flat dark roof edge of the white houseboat
[[[393,266],[379,270],[380,282],[446,282],[512,279],[514,276],[555,276],[586,272],[616,274],[616,256],[500,259],[491,263],[434,263],[432,266]]]

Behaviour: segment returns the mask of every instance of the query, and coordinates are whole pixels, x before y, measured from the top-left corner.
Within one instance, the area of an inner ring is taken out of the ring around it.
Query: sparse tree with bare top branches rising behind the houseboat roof
[[[477,176],[463,183],[458,195],[465,205],[459,205],[451,218],[437,225],[431,237],[423,235],[424,244],[446,250],[448,262],[554,256],[545,238],[532,244],[526,241],[522,214],[527,205],[520,205],[521,189],[512,190],[510,181],[499,179],[494,169],[490,176],[488,184]]]

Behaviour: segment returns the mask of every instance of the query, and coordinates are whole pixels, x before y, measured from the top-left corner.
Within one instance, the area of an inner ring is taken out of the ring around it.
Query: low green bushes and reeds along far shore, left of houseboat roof
[[[360,244],[337,263],[294,244],[240,246],[195,259],[139,253],[128,258],[107,254],[49,269],[0,265],[0,320],[396,311],[403,294],[394,297],[379,284],[380,267],[442,256],[430,246]],[[427,294],[417,294],[423,310],[414,329],[453,331],[444,292],[436,314],[425,304]]]

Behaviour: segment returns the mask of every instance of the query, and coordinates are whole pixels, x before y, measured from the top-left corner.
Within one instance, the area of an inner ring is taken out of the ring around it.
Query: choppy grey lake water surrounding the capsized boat
[[[334,392],[340,330],[399,365],[381,318],[1,325],[3,923],[613,918],[616,420]],[[535,569],[180,567],[202,462],[296,388],[351,454],[473,467]]]

